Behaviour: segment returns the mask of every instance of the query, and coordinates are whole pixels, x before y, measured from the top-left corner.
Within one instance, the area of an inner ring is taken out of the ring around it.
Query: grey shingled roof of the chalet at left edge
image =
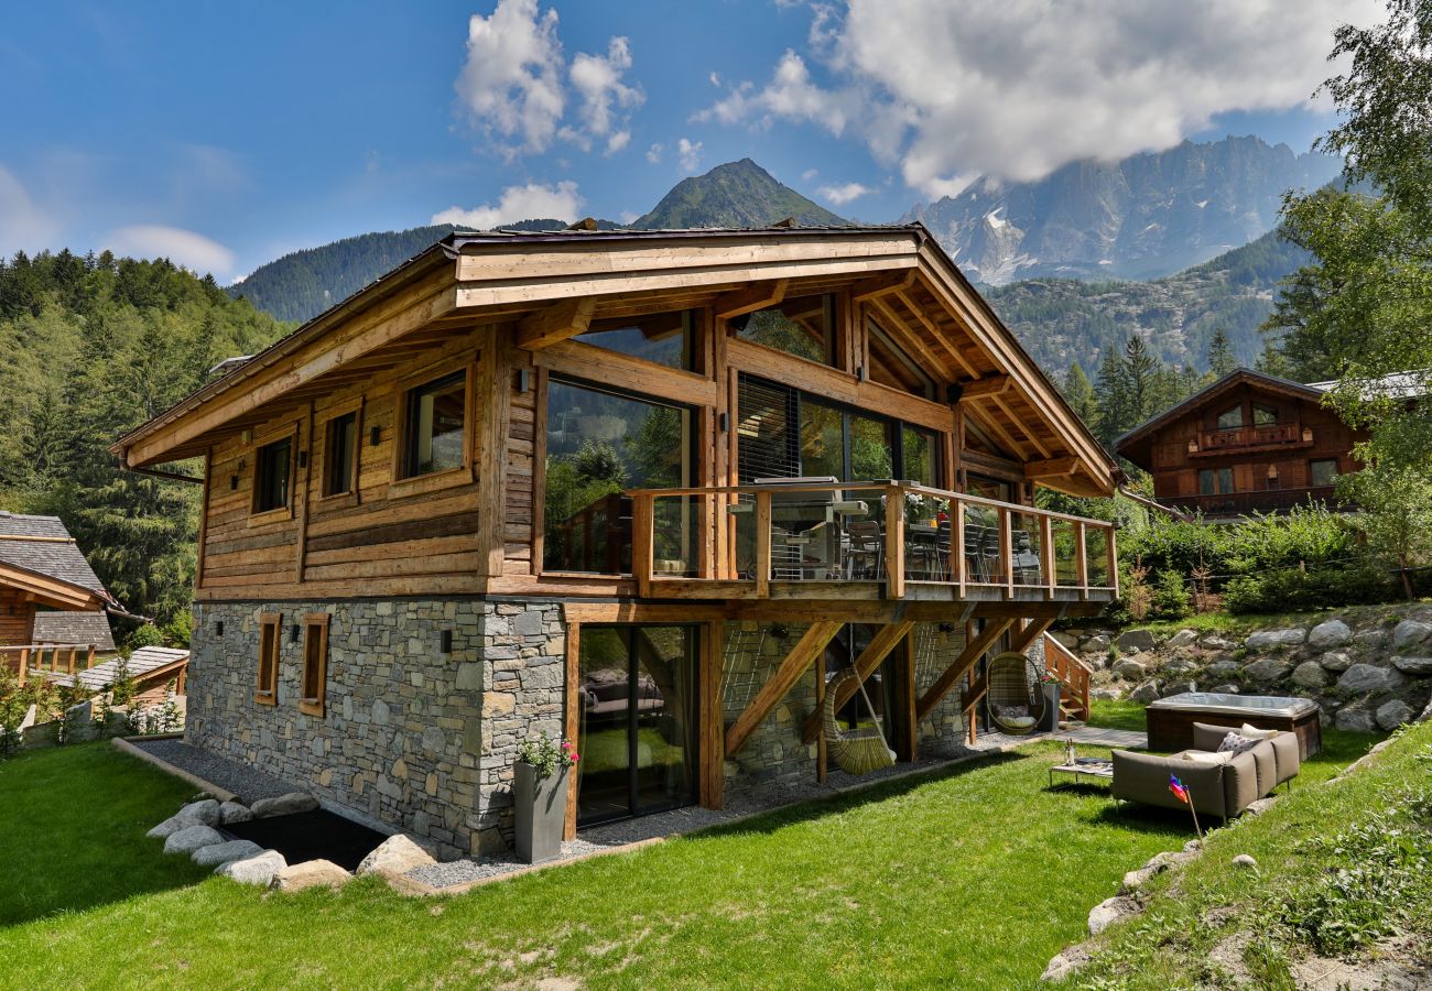
[[[53,609],[117,606],[53,516],[0,511],[0,584],[23,589]]]

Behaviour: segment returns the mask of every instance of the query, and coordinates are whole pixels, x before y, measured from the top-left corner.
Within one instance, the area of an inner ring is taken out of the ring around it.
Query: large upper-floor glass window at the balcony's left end
[[[692,484],[692,414],[682,407],[551,380],[547,385],[547,477],[543,567],[554,571],[632,571],[629,488]],[[683,498],[656,504],[657,567],[695,567],[699,507]]]

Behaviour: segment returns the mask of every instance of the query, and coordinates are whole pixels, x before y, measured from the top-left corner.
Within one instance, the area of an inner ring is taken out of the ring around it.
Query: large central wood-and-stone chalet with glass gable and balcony
[[[922,226],[453,235],[115,447],[203,460],[188,739],[448,852],[901,760],[1117,594],[1117,468]],[[958,692],[955,689],[959,689]]]

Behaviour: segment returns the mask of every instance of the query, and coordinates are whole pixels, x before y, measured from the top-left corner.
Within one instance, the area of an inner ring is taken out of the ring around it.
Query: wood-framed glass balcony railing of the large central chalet
[[[1108,601],[1114,527],[909,481],[634,490],[639,594]]]

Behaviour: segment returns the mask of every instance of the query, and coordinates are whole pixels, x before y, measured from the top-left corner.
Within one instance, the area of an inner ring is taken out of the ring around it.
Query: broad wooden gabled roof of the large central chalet
[[[474,322],[558,327],[589,299],[597,318],[657,305],[716,302],[722,311],[773,285],[805,295],[852,284],[934,377],[962,387],[961,408],[1021,455],[1028,477],[1073,494],[1113,493],[1114,461],[918,223],[453,233],[112,450],[130,467],[198,457],[261,422],[269,402],[369,378],[401,364],[415,339],[438,342]]]

